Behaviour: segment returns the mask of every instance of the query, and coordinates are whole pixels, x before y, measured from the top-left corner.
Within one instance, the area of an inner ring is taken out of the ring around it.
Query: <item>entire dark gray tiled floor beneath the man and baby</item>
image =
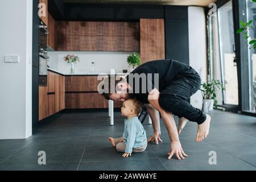
[[[0,140],[0,170],[256,170],[256,118],[217,110],[210,115],[208,138],[196,143],[197,125],[189,122],[180,134],[189,157],[168,160],[170,141],[162,121],[163,143],[122,158],[108,141],[123,133],[119,112],[114,126],[106,111],[57,113],[28,139]],[[150,137],[152,125],[143,126]],[[39,151],[46,152],[46,165],[38,164]],[[209,164],[210,151],[217,154],[216,165]]]

